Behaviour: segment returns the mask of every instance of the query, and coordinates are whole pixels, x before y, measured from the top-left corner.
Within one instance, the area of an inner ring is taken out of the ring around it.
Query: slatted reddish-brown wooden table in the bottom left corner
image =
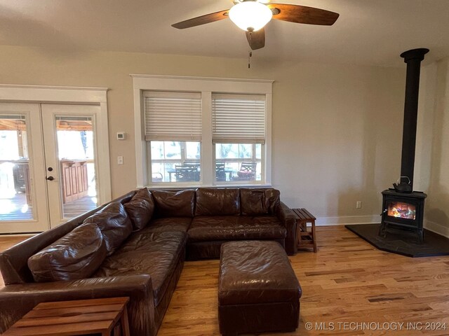
[[[109,297],[39,303],[2,336],[130,336],[128,301],[129,297]]]

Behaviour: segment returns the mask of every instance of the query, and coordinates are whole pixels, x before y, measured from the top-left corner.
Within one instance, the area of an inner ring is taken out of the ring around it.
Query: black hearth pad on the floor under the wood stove
[[[378,235],[380,224],[354,224],[344,227],[382,251],[412,258],[449,255],[449,239],[426,229],[424,229],[424,242],[420,244],[415,232],[404,230],[389,228],[387,237],[380,237]]]

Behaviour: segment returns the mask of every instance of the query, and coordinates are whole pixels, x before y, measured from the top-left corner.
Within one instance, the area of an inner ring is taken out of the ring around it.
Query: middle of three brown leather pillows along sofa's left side
[[[133,231],[133,224],[126,214],[125,207],[119,202],[107,204],[106,207],[86,218],[84,223],[98,225],[105,239],[107,255],[114,253]]]

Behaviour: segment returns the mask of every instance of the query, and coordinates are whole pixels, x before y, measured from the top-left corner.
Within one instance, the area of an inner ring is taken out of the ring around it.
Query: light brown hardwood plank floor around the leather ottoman
[[[449,256],[382,252],[342,226],[316,231],[318,253],[290,257],[303,292],[300,327],[263,335],[449,335]],[[0,250],[9,239],[0,237]],[[185,262],[159,336],[219,335],[218,263]]]

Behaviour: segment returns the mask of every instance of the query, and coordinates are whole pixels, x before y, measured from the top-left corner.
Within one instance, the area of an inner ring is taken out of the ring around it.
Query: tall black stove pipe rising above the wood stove
[[[410,179],[413,190],[413,171],[415,170],[416,126],[418,117],[418,93],[420,91],[420,66],[429,49],[420,48],[403,52],[407,63],[406,104],[404,106],[404,125],[402,135],[401,176]],[[407,179],[401,179],[408,183]]]

